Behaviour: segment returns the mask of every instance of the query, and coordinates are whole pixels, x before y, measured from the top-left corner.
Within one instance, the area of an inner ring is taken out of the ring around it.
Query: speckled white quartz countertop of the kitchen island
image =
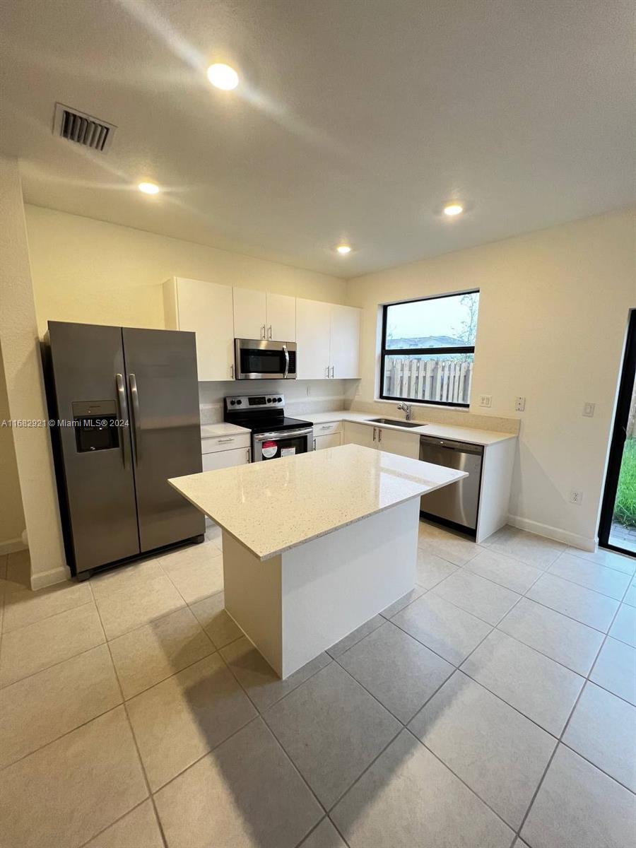
[[[169,483],[260,560],[267,560],[466,476],[464,471],[346,444],[175,477]]]

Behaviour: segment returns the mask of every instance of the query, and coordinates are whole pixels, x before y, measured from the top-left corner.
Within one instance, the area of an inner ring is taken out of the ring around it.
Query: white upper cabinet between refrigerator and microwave
[[[173,277],[164,284],[165,326],[197,334],[199,382],[234,378],[232,287]]]

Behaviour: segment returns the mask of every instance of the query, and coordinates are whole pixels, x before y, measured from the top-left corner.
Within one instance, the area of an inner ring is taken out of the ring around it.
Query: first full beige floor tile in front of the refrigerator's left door
[[[96,603],[108,639],[116,639],[185,605],[181,594],[163,574],[132,589],[98,598]]]

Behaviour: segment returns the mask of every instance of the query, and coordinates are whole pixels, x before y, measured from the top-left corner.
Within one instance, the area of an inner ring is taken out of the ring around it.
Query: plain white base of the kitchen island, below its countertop
[[[226,611],[287,678],[410,592],[420,499],[261,561],[223,532]]]

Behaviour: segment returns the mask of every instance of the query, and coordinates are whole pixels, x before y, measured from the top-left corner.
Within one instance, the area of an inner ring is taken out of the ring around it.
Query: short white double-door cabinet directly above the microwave
[[[235,287],[233,299],[236,338],[296,341],[296,298]]]

